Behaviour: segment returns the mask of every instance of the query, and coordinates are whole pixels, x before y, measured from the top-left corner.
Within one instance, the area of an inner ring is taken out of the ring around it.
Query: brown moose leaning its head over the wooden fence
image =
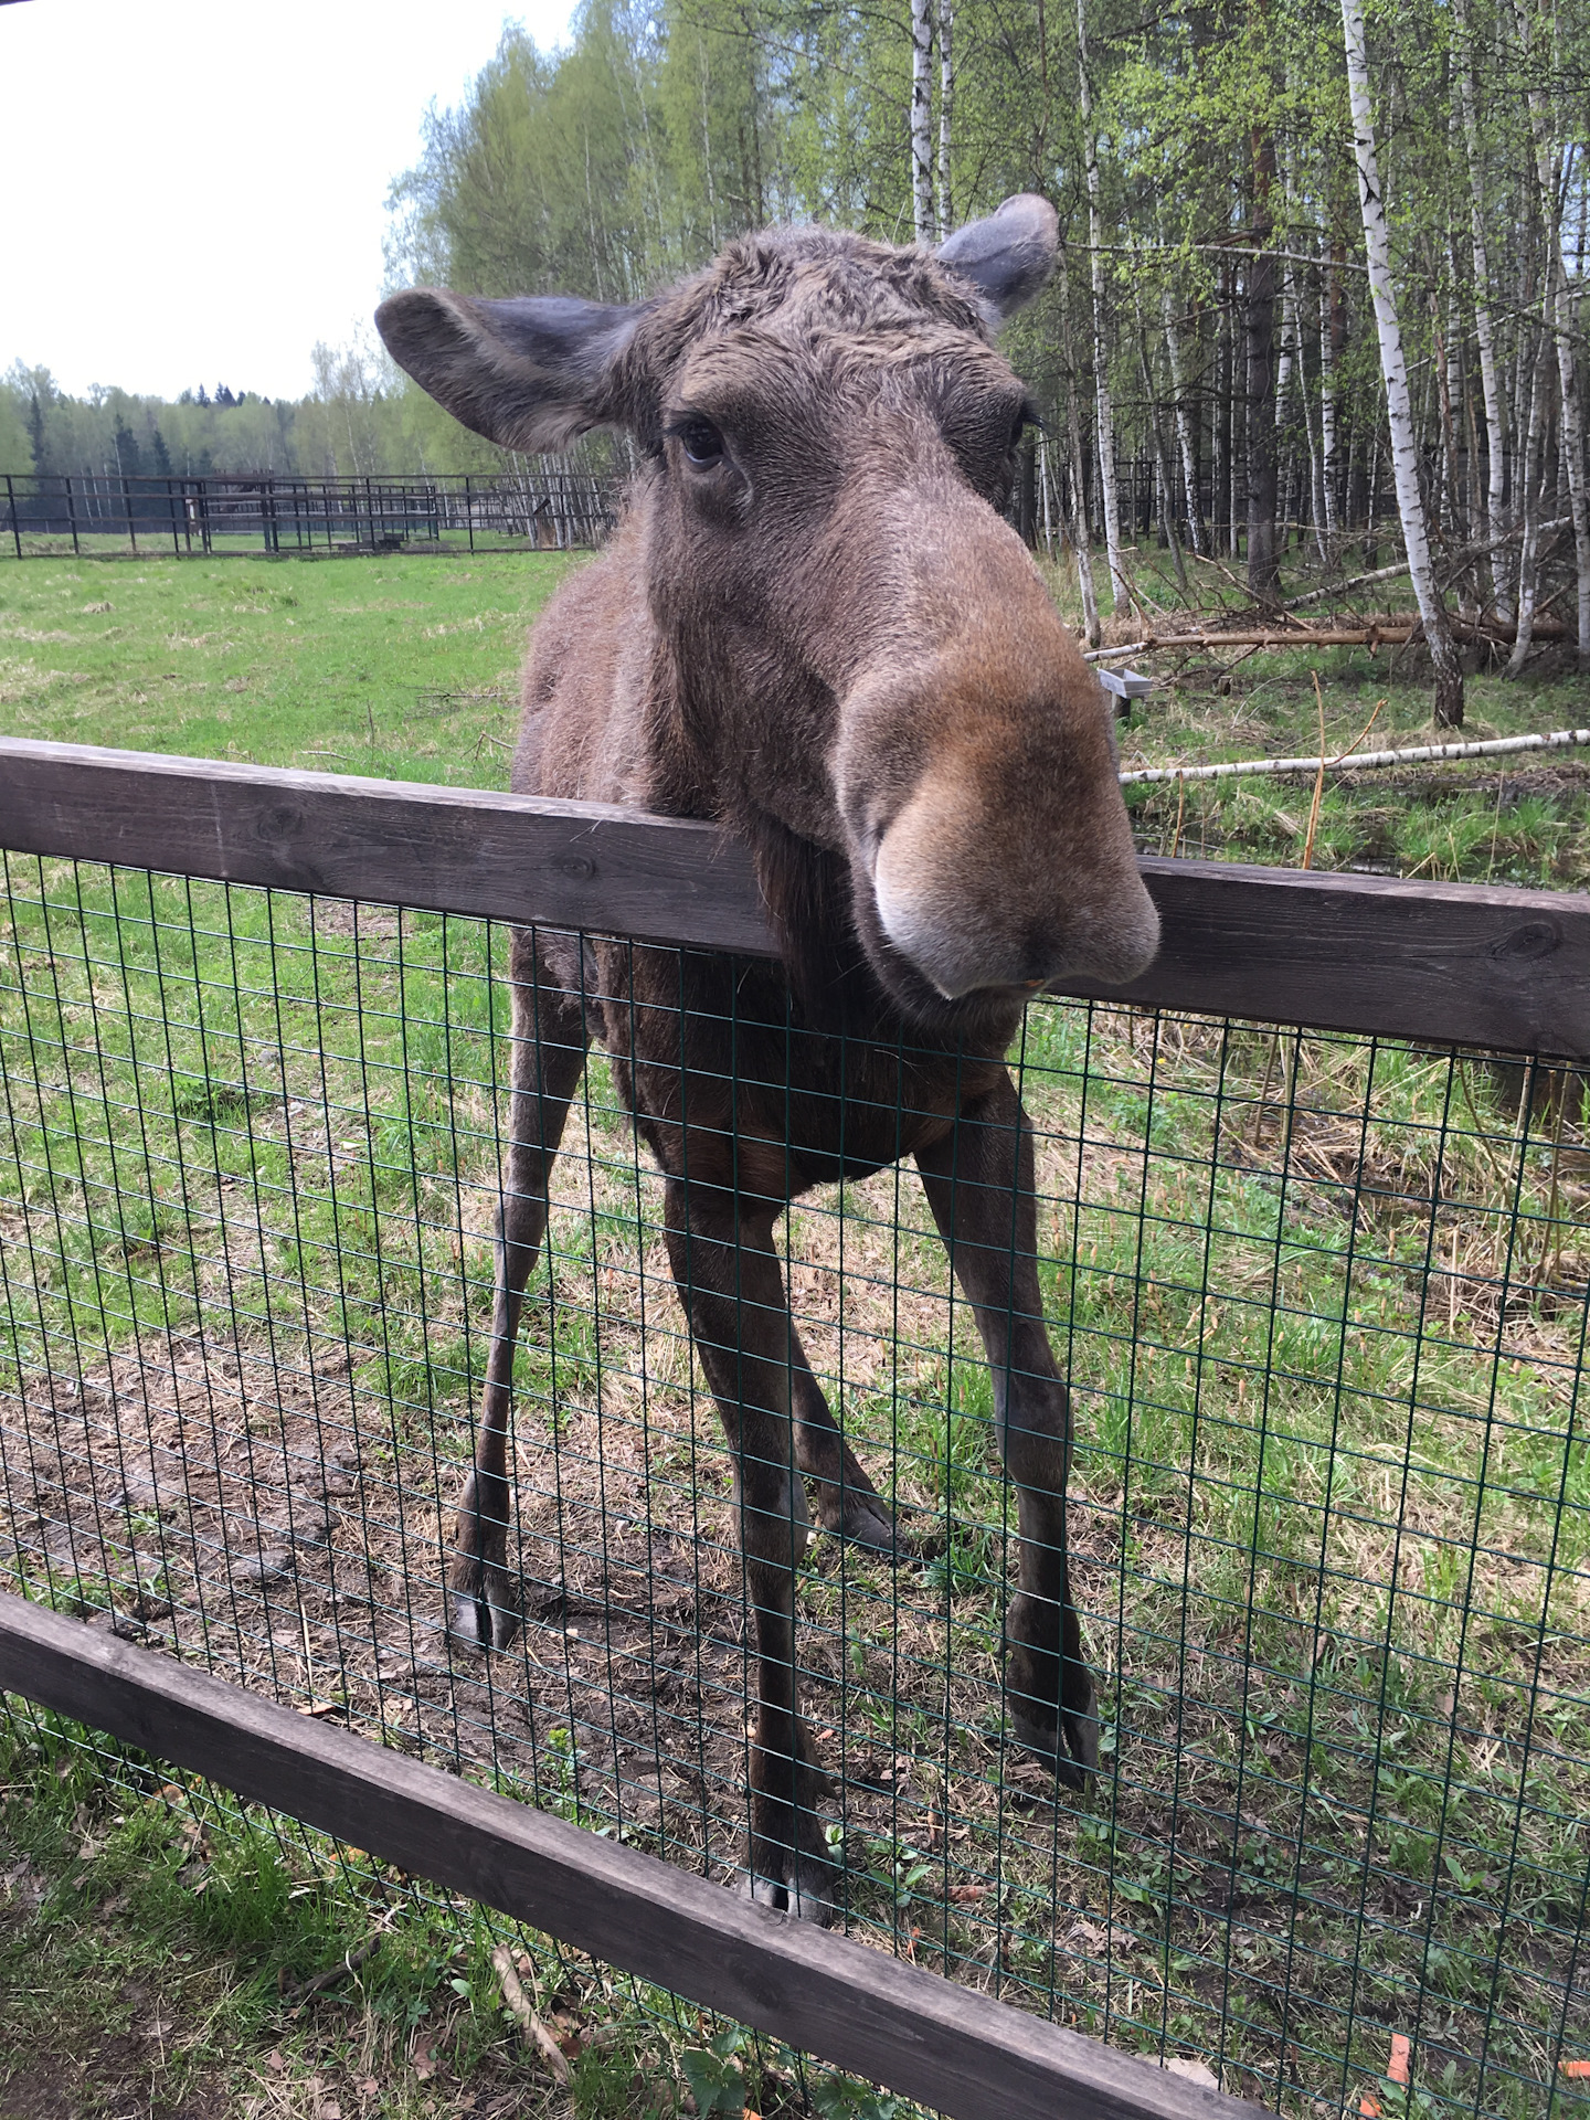
[[[1037,990],[1136,977],[1158,916],[1113,717],[1001,513],[1037,413],[994,337],[1056,244],[1054,208],[1022,193],[937,250],[774,229],[636,305],[413,288],[377,312],[392,358],[490,441],[632,439],[623,524],[534,628],[511,784],[740,833],[780,943],[759,962],[513,933],[492,1342],[447,1624],[483,1651],[517,1626],[513,1350],[600,1037],[664,1172],[668,1259],[736,1467],[746,1885],[816,1923],[840,1878],[795,1571],[812,1509],[895,1558],[905,1541],[789,1314],[774,1223],[814,1185],[916,1160],[1018,1488],[1009,1730],[1068,1787],[1098,1766],[1066,1571],[1071,1412],[1005,1054]]]

